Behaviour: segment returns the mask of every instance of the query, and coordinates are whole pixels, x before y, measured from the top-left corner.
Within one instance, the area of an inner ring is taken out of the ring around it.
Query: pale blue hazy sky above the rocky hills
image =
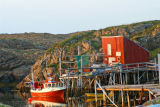
[[[0,33],[66,34],[160,20],[160,0],[0,0]]]

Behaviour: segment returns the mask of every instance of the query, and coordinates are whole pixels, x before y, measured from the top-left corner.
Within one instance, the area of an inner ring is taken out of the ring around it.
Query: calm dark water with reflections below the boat
[[[6,89],[7,90],[7,89]],[[0,90],[0,103],[11,107],[95,107],[95,99],[79,98],[30,98],[30,94],[16,90]],[[102,106],[99,100],[97,106]],[[1,106],[0,106],[1,107]]]

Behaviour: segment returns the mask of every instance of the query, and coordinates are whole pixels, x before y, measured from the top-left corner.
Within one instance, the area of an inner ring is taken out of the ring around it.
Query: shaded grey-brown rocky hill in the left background
[[[48,33],[0,34],[0,87],[24,79],[48,47],[70,36]]]

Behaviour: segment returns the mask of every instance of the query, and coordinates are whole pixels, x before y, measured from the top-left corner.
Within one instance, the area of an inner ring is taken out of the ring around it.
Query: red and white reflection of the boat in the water
[[[33,107],[65,107],[64,97],[32,97],[28,102]]]

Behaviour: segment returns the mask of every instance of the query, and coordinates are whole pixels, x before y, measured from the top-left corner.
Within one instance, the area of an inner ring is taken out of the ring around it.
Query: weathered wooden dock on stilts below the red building
[[[116,107],[119,106],[117,102],[122,103],[123,107],[127,101],[130,107],[143,104],[144,98],[147,101],[160,96],[160,64],[156,62],[93,65],[90,62],[88,66],[64,68],[65,74],[61,74],[59,79],[67,87],[68,93],[72,93],[70,95],[83,94],[84,89],[92,93],[95,91],[93,96],[97,102],[97,91],[102,91],[103,105]],[[89,72],[85,72],[86,69]]]

